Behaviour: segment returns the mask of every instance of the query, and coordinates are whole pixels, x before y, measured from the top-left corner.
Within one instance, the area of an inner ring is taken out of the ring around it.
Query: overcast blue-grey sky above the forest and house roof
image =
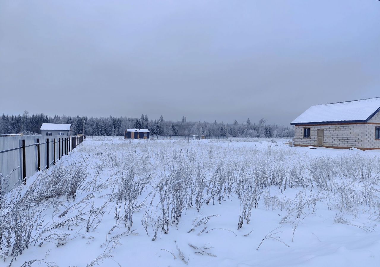
[[[288,125],[380,96],[380,1],[0,1],[0,112]]]

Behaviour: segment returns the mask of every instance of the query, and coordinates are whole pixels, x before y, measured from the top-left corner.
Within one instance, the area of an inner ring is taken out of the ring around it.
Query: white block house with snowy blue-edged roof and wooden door
[[[380,149],[380,97],[312,106],[294,125],[294,145]]]

